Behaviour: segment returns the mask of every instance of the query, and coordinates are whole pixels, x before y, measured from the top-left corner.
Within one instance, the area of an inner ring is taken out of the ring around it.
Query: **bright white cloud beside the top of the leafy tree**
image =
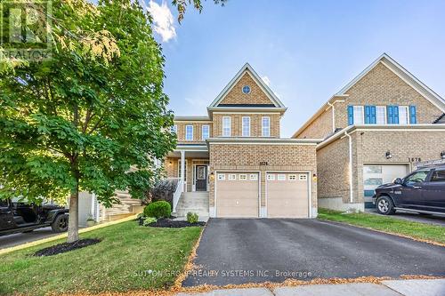
[[[163,0],[162,4],[159,5],[151,0],[147,10],[153,18],[153,28],[162,37],[162,42],[173,39],[176,36],[174,17],[166,1]]]

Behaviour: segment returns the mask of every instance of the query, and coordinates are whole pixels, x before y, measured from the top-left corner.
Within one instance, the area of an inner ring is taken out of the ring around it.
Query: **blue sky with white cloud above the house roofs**
[[[290,137],[383,52],[445,97],[445,1],[229,0],[188,7],[147,0],[166,56],[165,92],[176,115],[206,106],[248,62],[287,106]]]

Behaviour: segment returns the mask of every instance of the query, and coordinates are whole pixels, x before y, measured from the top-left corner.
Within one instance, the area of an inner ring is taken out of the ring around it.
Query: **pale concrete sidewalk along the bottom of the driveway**
[[[311,284],[295,287],[214,290],[176,296],[443,296],[445,279],[393,280],[382,284]]]

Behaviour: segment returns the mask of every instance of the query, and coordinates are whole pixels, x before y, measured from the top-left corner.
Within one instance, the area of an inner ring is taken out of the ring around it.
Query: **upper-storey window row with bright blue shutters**
[[[348,106],[352,124],[417,124],[416,106]]]

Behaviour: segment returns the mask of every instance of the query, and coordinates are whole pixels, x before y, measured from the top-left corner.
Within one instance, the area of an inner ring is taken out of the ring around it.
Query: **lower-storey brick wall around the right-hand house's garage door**
[[[359,131],[352,133],[353,201],[363,203],[364,164],[407,164],[410,159],[440,159],[445,149],[445,132]],[[391,159],[386,159],[390,151]],[[349,203],[349,142],[336,140],[317,150],[318,196],[342,197]]]

